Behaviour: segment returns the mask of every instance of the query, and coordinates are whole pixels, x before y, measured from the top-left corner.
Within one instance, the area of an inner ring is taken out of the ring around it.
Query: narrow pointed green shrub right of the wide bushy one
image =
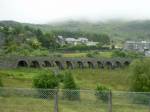
[[[63,92],[63,98],[68,100],[80,99],[79,88],[77,87],[74,78],[70,72],[65,73],[63,84],[65,89]]]

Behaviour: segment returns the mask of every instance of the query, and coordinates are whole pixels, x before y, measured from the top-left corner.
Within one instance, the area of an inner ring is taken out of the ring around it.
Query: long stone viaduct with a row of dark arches
[[[50,58],[50,57],[11,57],[0,59],[0,68],[33,67],[46,68],[58,67],[59,69],[75,68],[120,68],[128,66],[131,59],[127,58]]]

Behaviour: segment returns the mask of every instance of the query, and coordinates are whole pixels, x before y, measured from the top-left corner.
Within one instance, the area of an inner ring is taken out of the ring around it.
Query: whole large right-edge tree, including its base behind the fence
[[[131,98],[135,103],[149,104],[149,94],[146,92],[150,92],[150,59],[135,60],[130,67],[132,70],[130,90],[142,92],[131,95]]]

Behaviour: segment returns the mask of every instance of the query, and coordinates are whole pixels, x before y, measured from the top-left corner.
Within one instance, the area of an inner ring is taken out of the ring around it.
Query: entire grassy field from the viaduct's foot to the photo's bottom
[[[5,87],[32,88],[32,80],[46,69],[0,69],[0,77]],[[66,72],[63,70],[59,72]],[[113,91],[128,91],[131,71],[122,69],[75,69],[71,70],[76,83],[82,89],[95,89],[98,83]],[[20,93],[21,94],[21,93]],[[53,112],[54,100],[30,96],[0,96],[0,112]],[[62,99],[59,94],[59,112],[108,112],[108,103],[98,101],[92,92],[81,91],[79,101]],[[128,94],[113,94],[113,112],[148,112],[149,105],[132,102]]]

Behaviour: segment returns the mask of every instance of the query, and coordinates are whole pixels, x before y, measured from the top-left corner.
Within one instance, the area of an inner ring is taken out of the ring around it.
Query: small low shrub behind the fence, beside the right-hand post
[[[108,102],[110,89],[99,84],[96,87],[95,96],[98,100],[102,100],[103,102]]]

